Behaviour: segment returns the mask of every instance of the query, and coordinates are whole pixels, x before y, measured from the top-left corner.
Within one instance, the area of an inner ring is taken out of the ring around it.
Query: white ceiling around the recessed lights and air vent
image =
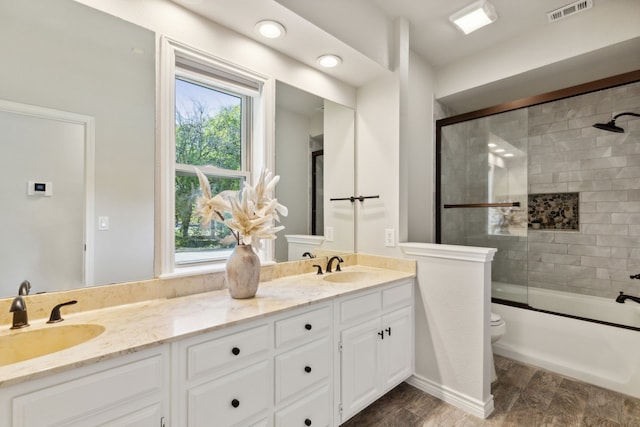
[[[611,26],[615,22],[607,21],[611,16],[620,16],[625,7],[630,5],[632,13],[639,10],[638,0],[593,0],[592,9],[549,23],[547,12],[572,1],[491,0],[498,13],[497,22],[465,36],[449,22],[448,16],[471,3],[471,0],[172,1],[317,69],[320,68],[315,59],[319,55],[338,54],[343,58],[343,64],[323,71],[355,87],[388,71],[388,63],[385,64],[384,59],[376,56],[377,53],[372,54],[376,46],[370,46],[374,41],[392,37],[390,28],[396,18],[406,19],[411,50],[422,57],[437,75],[439,70],[446,71],[451,64],[464,61],[478,52],[491,51],[495,54],[501,46],[514,39],[527,41],[528,37],[539,38],[545,32],[560,35],[559,43],[565,38],[580,37],[581,34],[576,33],[575,25],[571,23],[571,20],[575,24],[581,19],[577,15],[592,14],[590,19],[597,18],[596,14],[602,15],[597,21],[602,28],[580,29],[580,32],[584,31],[585,35],[597,40],[594,31],[605,35],[614,28]],[[611,15],[613,8],[618,9],[617,15]],[[287,29],[287,36],[266,41],[260,38],[254,26],[262,19],[281,22]],[[374,25],[380,22],[383,24]],[[565,33],[562,33],[563,28],[567,28]],[[598,46],[588,55],[556,61],[549,66],[530,70],[526,75],[514,75],[464,93],[443,95],[439,99],[458,112],[467,112],[640,69],[639,34],[630,37],[627,43],[612,45],[611,49]],[[543,48],[552,50],[553,46]],[[380,50],[388,51],[389,46],[382,46]],[[382,52],[380,56],[384,57],[385,54],[387,52]],[[531,51],[530,54],[547,55],[548,52]]]

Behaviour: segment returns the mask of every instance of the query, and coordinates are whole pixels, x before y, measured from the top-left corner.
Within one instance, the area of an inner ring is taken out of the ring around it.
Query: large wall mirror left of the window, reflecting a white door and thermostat
[[[0,2],[0,38],[5,107],[58,117],[0,114],[12,130],[0,134],[0,295],[24,279],[36,293],[153,278],[154,33],[71,0],[20,0]],[[73,115],[93,126],[68,129]],[[29,195],[29,181],[53,191]]]

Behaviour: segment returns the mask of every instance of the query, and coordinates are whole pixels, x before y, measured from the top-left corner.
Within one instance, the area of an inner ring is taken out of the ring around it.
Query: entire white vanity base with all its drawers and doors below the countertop
[[[413,373],[413,288],[311,298],[0,386],[0,426],[337,427]]]

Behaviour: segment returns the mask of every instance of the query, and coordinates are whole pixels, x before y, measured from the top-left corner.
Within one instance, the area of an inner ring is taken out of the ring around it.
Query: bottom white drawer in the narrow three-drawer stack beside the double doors
[[[331,414],[329,386],[303,397],[276,413],[276,427],[328,427]]]

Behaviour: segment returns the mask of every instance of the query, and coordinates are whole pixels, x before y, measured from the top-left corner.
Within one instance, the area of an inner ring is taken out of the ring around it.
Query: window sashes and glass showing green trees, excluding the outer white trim
[[[212,194],[240,190],[249,176],[251,98],[197,79],[180,69],[175,79],[175,262],[224,260],[233,246],[223,245],[230,232],[218,222],[200,226],[196,216],[197,166],[209,178]]]

